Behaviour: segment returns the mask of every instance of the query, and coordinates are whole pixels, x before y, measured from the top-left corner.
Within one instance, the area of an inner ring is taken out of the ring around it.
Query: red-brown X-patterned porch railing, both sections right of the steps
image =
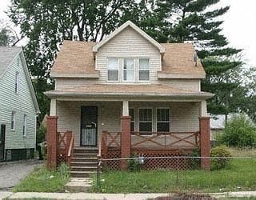
[[[194,149],[200,146],[197,132],[132,132],[131,150]],[[99,153],[108,149],[121,150],[121,132],[103,132]]]

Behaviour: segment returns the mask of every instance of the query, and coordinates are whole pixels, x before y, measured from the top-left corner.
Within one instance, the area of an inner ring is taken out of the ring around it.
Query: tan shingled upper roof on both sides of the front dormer
[[[96,42],[65,40],[50,72],[52,77],[98,78],[95,70],[93,47]],[[162,71],[158,78],[205,78],[198,59],[194,66],[194,47],[189,43],[161,43],[166,48],[162,58]]]

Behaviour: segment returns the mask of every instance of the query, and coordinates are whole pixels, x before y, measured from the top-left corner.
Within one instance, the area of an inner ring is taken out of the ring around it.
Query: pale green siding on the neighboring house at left
[[[19,73],[19,90],[15,94],[15,74]],[[16,112],[15,130],[10,130],[12,111]],[[23,116],[27,115],[26,137],[22,136]],[[26,75],[18,59],[6,70],[0,78],[0,124],[6,124],[6,149],[22,149],[35,147],[36,111],[30,94]]]

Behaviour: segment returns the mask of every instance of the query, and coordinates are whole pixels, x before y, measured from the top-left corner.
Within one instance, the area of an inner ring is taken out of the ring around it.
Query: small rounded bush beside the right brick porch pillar
[[[216,146],[210,151],[210,157],[221,157],[211,159],[211,169],[221,170],[229,165],[231,153],[227,150],[226,146]]]

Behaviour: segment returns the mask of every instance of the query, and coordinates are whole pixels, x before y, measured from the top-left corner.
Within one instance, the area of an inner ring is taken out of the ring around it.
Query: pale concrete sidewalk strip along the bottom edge
[[[36,192],[2,192],[0,191],[0,199],[27,199],[27,198],[46,198],[46,199],[94,199],[94,200],[144,200],[147,198],[157,198],[168,196],[170,194],[94,194],[94,193],[36,193]],[[256,197],[256,191],[242,192],[224,192],[212,193],[215,198],[249,198]]]

